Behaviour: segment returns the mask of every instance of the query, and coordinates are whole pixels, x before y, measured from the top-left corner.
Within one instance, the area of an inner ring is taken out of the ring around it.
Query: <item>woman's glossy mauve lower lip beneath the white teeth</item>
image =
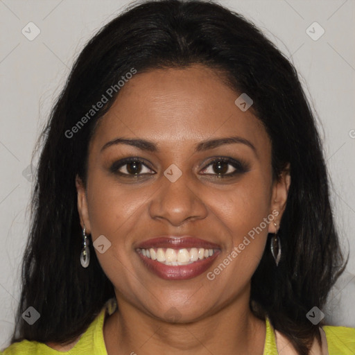
[[[137,254],[141,258],[141,261],[143,261],[146,268],[160,278],[165,280],[187,280],[193,279],[193,277],[197,277],[208,270],[214,262],[214,259],[216,259],[218,254],[220,254],[220,250],[216,250],[211,257],[206,259],[194,261],[188,265],[179,266],[165,265],[164,263],[159,263],[159,261],[144,257],[144,255],[140,252],[137,252]]]

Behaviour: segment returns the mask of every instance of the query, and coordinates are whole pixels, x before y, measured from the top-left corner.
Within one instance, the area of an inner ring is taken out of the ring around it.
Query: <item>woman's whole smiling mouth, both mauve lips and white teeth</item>
[[[144,241],[136,252],[158,277],[183,280],[205,272],[220,254],[220,246],[190,236],[167,236]]]

